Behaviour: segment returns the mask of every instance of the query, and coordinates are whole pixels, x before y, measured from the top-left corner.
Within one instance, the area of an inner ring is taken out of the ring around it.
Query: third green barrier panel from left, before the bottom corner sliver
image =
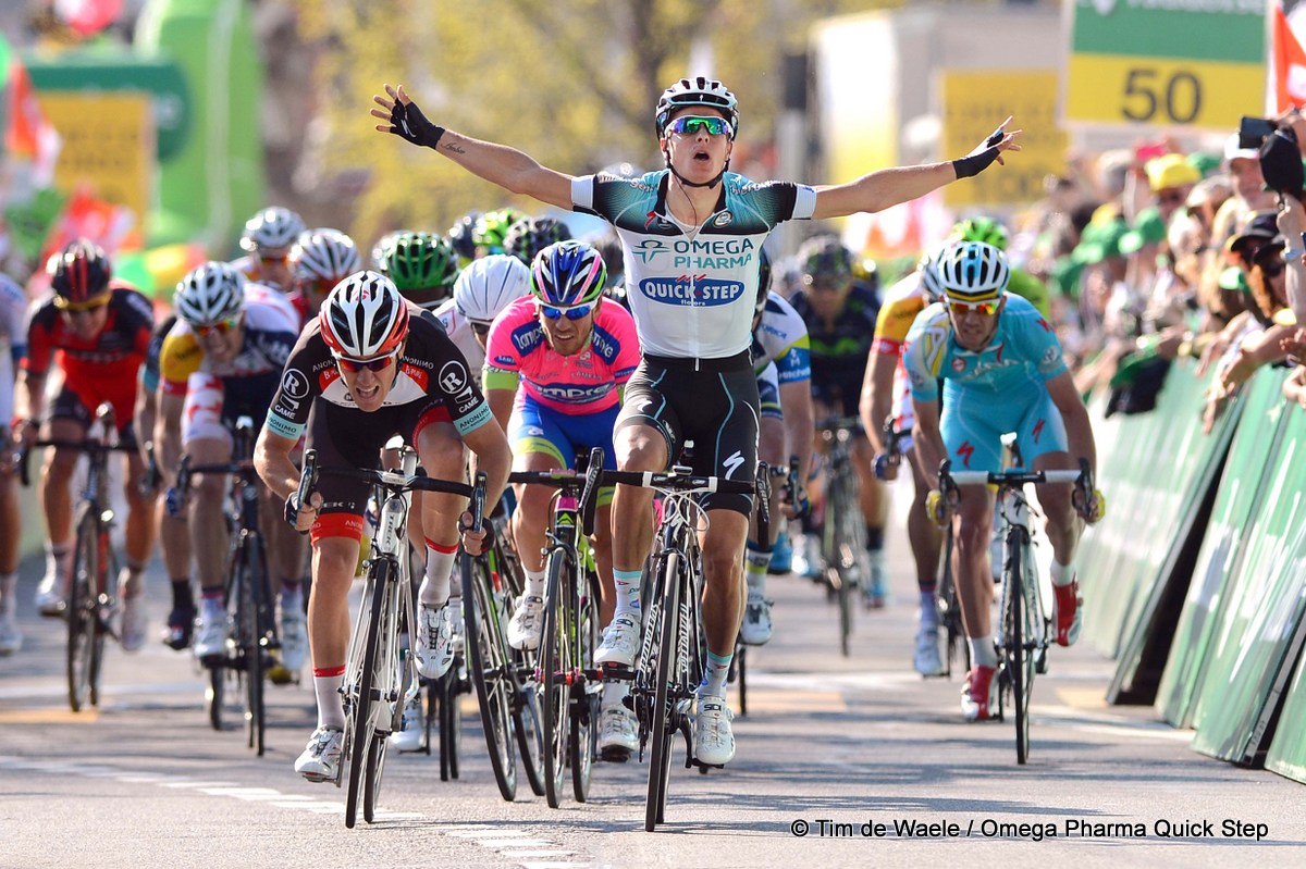
[[[1280,450],[1266,457],[1272,474],[1263,509],[1228,583],[1192,715],[1194,749],[1245,765],[1268,748],[1271,699],[1277,701],[1296,663],[1288,652],[1306,609],[1306,411],[1285,410]]]

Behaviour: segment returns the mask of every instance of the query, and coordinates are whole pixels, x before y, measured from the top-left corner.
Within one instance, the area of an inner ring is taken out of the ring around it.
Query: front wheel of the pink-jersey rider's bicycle
[[[567,673],[572,671],[571,617],[567,595],[573,587],[575,564],[560,549],[549,555],[545,586],[545,622],[541,632],[541,719],[545,728],[545,799],[549,808],[562,804],[563,779],[571,742],[571,690]]]

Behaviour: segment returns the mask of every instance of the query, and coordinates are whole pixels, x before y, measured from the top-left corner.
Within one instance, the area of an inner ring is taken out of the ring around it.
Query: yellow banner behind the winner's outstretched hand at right
[[[949,209],[1019,205],[1045,196],[1043,179],[1066,171],[1066,130],[1057,119],[1057,70],[961,70],[940,73],[943,121],[939,151],[969,154],[998,124],[1013,117],[1010,129],[1023,129],[1021,150],[1006,166],[943,188]]]

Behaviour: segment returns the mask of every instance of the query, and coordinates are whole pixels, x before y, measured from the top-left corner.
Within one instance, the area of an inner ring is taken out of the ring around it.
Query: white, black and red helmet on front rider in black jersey
[[[371,359],[407,337],[407,303],[379,271],[357,271],[330,291],[317,312],[323,339],[337,356]]]

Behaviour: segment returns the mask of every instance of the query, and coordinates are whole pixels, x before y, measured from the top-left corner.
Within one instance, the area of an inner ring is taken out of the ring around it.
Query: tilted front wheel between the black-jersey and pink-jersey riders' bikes
[[[512,732],[516,685],[512,684],[508,641],[500,630],[503,622],[485,561],[466,553],[460,561],[468,672],[481,706],[481,728],[499,796],[512,802],[517,796],[517,745]]]

